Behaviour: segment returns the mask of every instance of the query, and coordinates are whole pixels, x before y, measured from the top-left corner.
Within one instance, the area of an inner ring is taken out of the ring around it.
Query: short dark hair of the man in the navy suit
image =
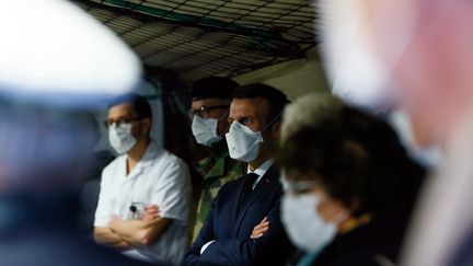
[[[263,83],[253,83],[236,88],[233,93],[233,99],[256,99],[261,97],[269,103],[269,115],[267,123],[279,122],[281,119],[281,113],[289,103],[286,94],[281,91]]]

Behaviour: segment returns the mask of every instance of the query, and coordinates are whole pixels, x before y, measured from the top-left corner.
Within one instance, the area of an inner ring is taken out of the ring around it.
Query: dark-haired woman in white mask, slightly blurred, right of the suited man
[[[284,127],[280,153],[282,221],[304,252],[297,265],[393,265],[424,170],[383,120],[299,102],[286,115],[305,118]]]

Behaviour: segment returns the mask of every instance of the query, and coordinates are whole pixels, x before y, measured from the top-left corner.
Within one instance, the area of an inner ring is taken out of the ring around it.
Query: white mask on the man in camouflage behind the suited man
[[[218,122],[215,118],[204,119],[198,115],[194,116],[192,130],[197,143],[210,147],[221,140],[222,137],[217,135]]]

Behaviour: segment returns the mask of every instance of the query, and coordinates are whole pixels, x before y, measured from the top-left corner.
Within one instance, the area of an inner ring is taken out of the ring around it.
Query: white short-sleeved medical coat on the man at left
[[[104,169],[94,227],[106,228],[113,216],[139,219],[145,206],[157,205],[161,217],[173,219],[172,224],[154,244],[136,247],[131,254],[143,255],[151,262],[180,264],[186,250],[191,189],[186,163],[151,141],[128,176],[126,154]]]

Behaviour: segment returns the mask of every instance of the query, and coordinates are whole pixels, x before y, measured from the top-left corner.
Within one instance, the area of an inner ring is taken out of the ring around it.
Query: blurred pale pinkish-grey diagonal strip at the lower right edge
[[[473,112],[448,136],[445,158],[430,176],[417,206],[401,265],[442,266],[469,235],[473,209]]]

